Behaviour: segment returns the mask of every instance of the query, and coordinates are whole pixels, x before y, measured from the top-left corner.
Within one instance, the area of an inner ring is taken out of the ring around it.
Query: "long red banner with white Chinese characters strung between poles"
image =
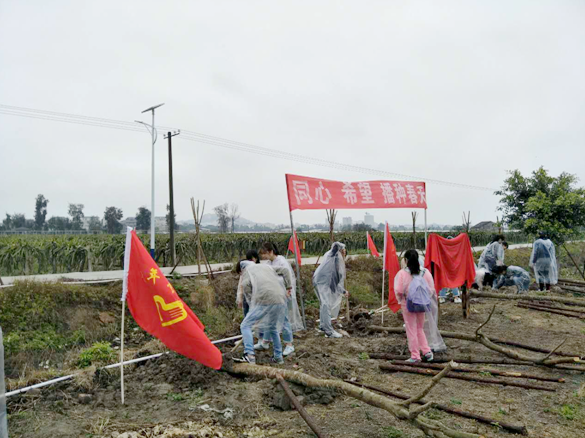
[[[427,208],[424,182],[341,182],[286,175],[288,205],[293,210],[346,208]]]

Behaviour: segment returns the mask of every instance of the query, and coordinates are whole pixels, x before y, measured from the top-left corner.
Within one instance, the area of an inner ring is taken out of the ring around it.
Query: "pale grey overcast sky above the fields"
[[[585,180],[585,2],[0,2],[0,104],[176,126],[307,157],[498,188],[544,165]],[[156,144],[156,215],[168,202]],[[150,137],[0,114],[0,215],[150,209]],[[284,174],[383,179],[174,138],[189,198],[289,220]],[[389,177],[388,179],[392,179]],[[495,220],[491,191],[428,183],[429,222]],[[211,208],[209,208],[210,210]],[[363,211],[339,217],[362,219]],[[408,223],[410,211],[372,211]],[[295,213],[318,222],[324,212]]]

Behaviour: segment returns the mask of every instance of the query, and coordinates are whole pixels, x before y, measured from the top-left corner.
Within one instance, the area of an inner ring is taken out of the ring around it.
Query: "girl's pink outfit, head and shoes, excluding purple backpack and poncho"
[[[423,357],[428,362],[433,360],[433,352],[425,336],[425,312],[412,313],[406,308],[406,298],[408,296],[408,287],[415,275],[422,275],[428,285],[428,292],[435,293],[435,284],[431,273],[422,268],[418,261],[418,253],[414,249],[409,249],[404,254],[406,268],[400,270],[394,278],[394,291],[396,299],[402,307],[402,316],[406,327],[406,337],[408,338],[408,349],[410,350],[410,359],[408,362],[420,362],[422,352]]]

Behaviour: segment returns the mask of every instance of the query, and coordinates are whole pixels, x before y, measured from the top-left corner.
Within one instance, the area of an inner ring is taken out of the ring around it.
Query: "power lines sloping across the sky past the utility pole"
[[[39,110],[34,108],[27,108],[27,107],[18,107],[12,105],[3,105],[0,104],[0,114],[4,115],[11,115],[11,116],[18,116],[18,117],[27,117],[32,119],[40,119],[40,120],[47,120],[47,121],[54,121],[54,122],[62,122],[62,123],[71,123],[77,125],[86,125],[86,126],[94,126],[97,128],[109,128],[109,129],[118,129],[124,131],[133,131],[133,132],[143,132],[138,126],[136,126],[133,122],[127,122],[124,120],[114,120],[114,119],[106,119],[100,117],[91,117],[91,116],[84,116],[81,114],[71,114],[71,113],[62,113],[57,111],[47,111],[47,110]],[[159,129],[165,130],[175,130],[177,128],[168,127],[168,126],[158,126]],[[446,185],[450,187],[460,187],[472,190],[482,190],[482,191],[490,191],[493,192],[495,189],[489,187],[482,187],[482,186],[475,186],[470,184],[462,184],[456,183],[451,181],[443,181],[437,179],[430,179],[412,175],[405,175],[396,172],[388,172],[380,169],[372,169],[368,167],[362,166],[354,166],[351,164],[345,163],[338,163],[331,160],[325,160],[321,158],[315,157],[306,157],[300,154],[295,154],[291,152],[284,152],[279,151],[276,149],[266,148],[262,146],[257,146],[249,143],[239,142],[235,140],[229,140],[221,137],[216,137],[208,134],[203,134],[195,131],[189,131],[181,129],[181,133],[183,134],[180,139],[192,141],[196,143],[203,143],[208,144],[211,146],[217,146],[224,149],[231,149],[240,152],[247,152],[253,153],[257,155],[263,155],[271,158],[278,158],[287,161],[294,161],[303,164],[311,164],[315,166],[321,167],[328,167],[337,170],[346,170],[351,172],[359,172],[364,174],[370,175],[377,175],[382,177],[398,177],[408,180],[422,180],[426,182],[431,182],[434,184]]]

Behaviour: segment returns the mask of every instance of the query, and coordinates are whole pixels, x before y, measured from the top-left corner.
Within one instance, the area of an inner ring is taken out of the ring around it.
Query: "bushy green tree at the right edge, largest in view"
[[[555,178],[544,167],[530,177],[519,170],[509,173],[496,192],[505,223],[533,235],[544,231],[557,244],[578,235],[585,226],[585,189],[576,187],[575,175],[563,172]]]

